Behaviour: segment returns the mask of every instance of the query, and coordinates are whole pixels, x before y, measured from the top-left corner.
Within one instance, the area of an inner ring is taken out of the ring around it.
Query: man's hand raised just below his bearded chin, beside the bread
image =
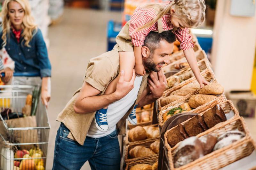
[[[163,95],[164,89],[167,85],[165,75],[162,70],[157,72],[158,80],[157,77],[152,74],[152,72],[149,75],[151,78],[151,80],[148,79],[149,89],[155,98],[160,98]]]

